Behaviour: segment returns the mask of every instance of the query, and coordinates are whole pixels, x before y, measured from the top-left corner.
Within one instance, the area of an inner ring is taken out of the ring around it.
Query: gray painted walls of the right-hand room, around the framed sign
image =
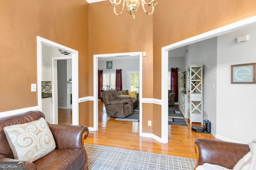
[[[255,139],[256,84],[231,84],[231,65],[256,63],[255,30],[254,25],[186,46],[184,65],[204,64],[204,117],[212,134],[224,141]],[[247,34],[249,41],[236,42]]]

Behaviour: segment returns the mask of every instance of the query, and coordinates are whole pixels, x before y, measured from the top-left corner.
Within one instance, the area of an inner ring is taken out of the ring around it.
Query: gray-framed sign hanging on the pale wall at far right
[[[255,63],[231,65],[231,84],[255,84]]]

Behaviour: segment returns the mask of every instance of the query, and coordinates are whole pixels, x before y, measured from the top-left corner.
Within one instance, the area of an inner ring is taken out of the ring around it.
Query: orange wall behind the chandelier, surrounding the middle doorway
[[[152,98],[153,16],[140,11],[132,20],[125,10],[116,16],[109,1],[89,4],[89,82],[93,82],[93,55],[138,51],[146,52],[142,58],[142,97]],[[90,83],[90,96],[93,88]],[[89,117],[93,117],[93,104],[89,108],[92,111]],[[147,114],[152,115],[152,109]]]

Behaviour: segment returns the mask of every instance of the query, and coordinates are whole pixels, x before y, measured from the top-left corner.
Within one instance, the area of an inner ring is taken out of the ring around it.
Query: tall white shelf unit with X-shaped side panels
[[[187,114],[192,122],[203,123],[203,65],[186,66]]]

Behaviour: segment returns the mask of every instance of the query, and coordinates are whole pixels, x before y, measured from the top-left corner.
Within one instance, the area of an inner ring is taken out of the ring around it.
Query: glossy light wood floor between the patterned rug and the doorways
[[[85,143],[196,158],[194,150],[196,139],[216,140],[211,134],[191,131],[191,126],[201,126],[201,124],[190,125],[189,120],[185,119],[188,126],[168,125],[168,143],[162,144],[148,137],[140,137],[139,122],[116,121],[115,117],[107,116],[103,102],[99,102],[98,109],[98,131],[90,131]]]

